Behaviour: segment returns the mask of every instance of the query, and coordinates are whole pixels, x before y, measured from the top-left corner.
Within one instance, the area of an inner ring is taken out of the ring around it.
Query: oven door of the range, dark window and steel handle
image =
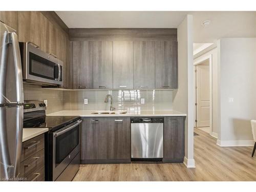
[[[53,181],[80,152],[81,119],[53,133]]]

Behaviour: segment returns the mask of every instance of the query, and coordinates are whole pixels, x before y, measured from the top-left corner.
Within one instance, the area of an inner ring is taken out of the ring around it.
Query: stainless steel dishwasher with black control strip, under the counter
[[[132,160],[161,160],[163,158],[162,117],[131,118]]]

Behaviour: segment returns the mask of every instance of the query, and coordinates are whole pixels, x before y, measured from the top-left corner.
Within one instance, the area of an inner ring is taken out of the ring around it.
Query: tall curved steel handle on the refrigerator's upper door
[[[24,103],[23,95],[23,77],[22,77],[22,59],[20,58],[18,36],[16,33],[9,33],[13,48],[15,77],[16,77],[16,90],[17,90],[17,103]]]

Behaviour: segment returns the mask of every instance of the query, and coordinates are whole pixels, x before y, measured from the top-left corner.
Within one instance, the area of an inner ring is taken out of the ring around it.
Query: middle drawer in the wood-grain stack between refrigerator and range
[[[20,177],[28,177],[43,166],[45,166],[44,149],[20,163]]]

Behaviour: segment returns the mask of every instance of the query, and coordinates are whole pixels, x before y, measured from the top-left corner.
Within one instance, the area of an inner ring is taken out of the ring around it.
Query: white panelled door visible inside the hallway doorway
[[[210,124],[209,61],[196,66],[197,127]]]

